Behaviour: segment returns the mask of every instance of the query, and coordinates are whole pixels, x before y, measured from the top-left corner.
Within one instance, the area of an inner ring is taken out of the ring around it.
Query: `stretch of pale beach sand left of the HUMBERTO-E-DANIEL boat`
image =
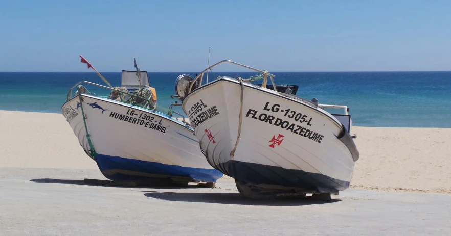
[[[97,169],[64,116],[0,111],[0,167]]]

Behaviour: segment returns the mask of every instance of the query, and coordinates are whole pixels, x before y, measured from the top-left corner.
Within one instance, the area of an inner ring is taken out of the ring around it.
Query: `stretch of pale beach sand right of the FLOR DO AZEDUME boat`
[[[451,194],[451,128],[353,128],[351,188]]]

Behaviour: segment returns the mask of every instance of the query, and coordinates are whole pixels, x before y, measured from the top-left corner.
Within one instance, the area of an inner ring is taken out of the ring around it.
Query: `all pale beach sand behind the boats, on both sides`
[[[351,188],[451,194],[451,128],[353,127]],[[0,111],[0,167],[97,169],[60,114]]]

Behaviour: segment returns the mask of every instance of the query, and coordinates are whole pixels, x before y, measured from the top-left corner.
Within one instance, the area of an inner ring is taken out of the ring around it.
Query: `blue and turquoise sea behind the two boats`
[[[175,99],[174,82],[183,72],[148,73],[161,106]],[[195,73],[187,73],[195,75]],[[299,85],[298,96],[323,104],[346,105],[354,126],[451,127],[451,72],[275,72],[276,84]],[[102,72],[120,86],[120,72]],[[218,75],[254,73],[210,73]],[[70,87],[78,81],[104,85],[93,72],[0,72],[0,110],[60,113]],[[255,82],[256,84],[261,81]],[[97,95],[109,90],[86,86]],[[177,112],[183,112],[181,108]]]

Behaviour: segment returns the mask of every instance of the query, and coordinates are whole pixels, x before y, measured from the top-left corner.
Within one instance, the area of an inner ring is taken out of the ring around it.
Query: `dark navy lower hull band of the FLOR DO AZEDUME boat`
[[[309,193],[333,193],[347,189],[350,183],[303,170],[284,169],[279,166],[240,161],[221,163],[216,168],[243,185],[263,186],[260,187],[262,189],[268,188],[268,186],[279,186],[301,191],[305,190]]]

